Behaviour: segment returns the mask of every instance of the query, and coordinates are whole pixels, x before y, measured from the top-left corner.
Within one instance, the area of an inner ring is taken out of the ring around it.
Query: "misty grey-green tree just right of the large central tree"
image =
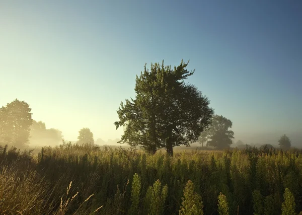
[[[229,128],[232,128],[232,125],[233,123],[230,119],[215,115],[208,130],[210,140],[207,141],[207,146],[223,149],[232,145],[234,132],[229,130]]]

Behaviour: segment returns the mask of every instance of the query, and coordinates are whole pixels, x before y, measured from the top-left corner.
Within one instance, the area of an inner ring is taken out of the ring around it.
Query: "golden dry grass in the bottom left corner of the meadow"
[[[59,197],[68,172],[62,173],[57,181],[49,181],[45,175],[41,176],[36,165],[37,160],[31,152],[0,146],[0,214],[93,214],[103,207],[92,212],[81,210],[94,194],[80,203],[77,200],[79,192],[71,189],[72,181],[66,187],[66,193]],[[97,176],[91,176],[94,183]],[[79,183],[77,187],[80,187]],[[91,190],[84,189],[86,192]]]

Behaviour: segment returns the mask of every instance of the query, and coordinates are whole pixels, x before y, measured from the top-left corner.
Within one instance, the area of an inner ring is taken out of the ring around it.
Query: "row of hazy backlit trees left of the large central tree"
[[[62,132],[46,128],[42,121],[32,119],[31,108],[25,101],[15,99],[0,108],[0,144],[24,148],[31,144],[59,145]],[[82,128],[78,136],[79,144],[94,144],[93,133]]]

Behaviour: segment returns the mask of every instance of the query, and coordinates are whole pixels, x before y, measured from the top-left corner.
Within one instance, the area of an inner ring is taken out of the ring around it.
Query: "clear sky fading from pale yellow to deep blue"
[[[144,64],[184,59],[236,139],[277,143],[302,131],[301,11],[298,0],[2,0],[0,106],[26,101],[67,140],[83,127],[120,138],[116,110]]]

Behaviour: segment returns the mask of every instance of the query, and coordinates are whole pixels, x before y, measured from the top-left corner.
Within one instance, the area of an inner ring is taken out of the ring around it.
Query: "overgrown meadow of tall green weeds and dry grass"
[[[91,145],[45,147],[38,154],[2,146],[0,163],[0,214],[298,214],[302,210],[298,150],[191,150],[169,157],[163,151],[149,155]]]

